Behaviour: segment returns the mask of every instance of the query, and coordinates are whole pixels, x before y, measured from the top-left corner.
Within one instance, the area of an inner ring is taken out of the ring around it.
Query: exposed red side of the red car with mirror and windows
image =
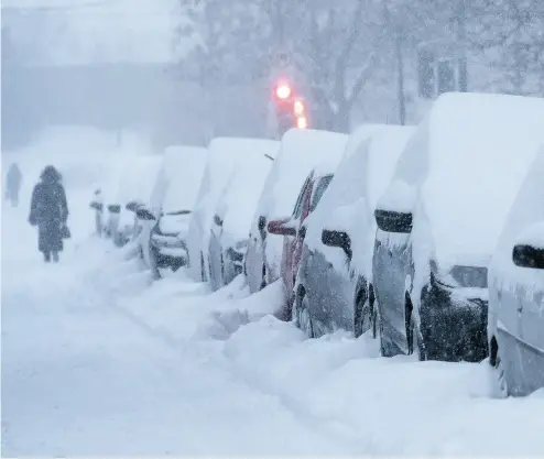
[[[304,237],[306,236],[306,226],[304,222],[308,215],[317,207],[333,176],[333,173],[319,175],[315,170],[312,171],[298,194],[292,216],[280,220],[272,220],[268,225],[269,233],[283,236],[281,276],[284,285],[285,305],[279,312],[279,318],[282,320],[290,321],[292,317],[293,289],[302,258]]]

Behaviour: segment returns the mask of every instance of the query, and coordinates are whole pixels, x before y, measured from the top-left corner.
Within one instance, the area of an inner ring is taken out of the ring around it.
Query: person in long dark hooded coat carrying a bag
[[[68,237],[66,220],[68,204],[61,184],[61,174],[53,166],[46,166],[41,174],[41,182],[34,186],[29,222],[37,226],[37,250],[48,263],[53,258],[58,261],[58,252],[63,251],[63,239]]]

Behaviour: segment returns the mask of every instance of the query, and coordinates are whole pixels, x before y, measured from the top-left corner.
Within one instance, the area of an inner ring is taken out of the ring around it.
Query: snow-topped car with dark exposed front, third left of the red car
[[[141,254],[154,273],[176,271],[188,262],[187,231],[206,167],[205,147],[171,145],[164,150],[149,205],[137,211],[142,231]]]

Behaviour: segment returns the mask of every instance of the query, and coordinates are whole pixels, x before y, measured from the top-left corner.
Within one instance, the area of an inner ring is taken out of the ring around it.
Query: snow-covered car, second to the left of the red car
[[[208,248],[214,211],[231,173],[243,167],[249,155],[261,154],[255,142],[263,139],[215,138],[208,145],[208,161],[198,189],[187,232],[189,274],[195,281],[207,281]],[[268,141],[265,141],[268,142]]]

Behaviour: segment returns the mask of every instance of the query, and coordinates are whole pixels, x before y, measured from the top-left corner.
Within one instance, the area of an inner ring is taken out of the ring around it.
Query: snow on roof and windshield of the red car
[[[263,187],[258,214],[290,216],[308,174],[334,172],[341,160],[348,135],[313,129],[290,129]]]

